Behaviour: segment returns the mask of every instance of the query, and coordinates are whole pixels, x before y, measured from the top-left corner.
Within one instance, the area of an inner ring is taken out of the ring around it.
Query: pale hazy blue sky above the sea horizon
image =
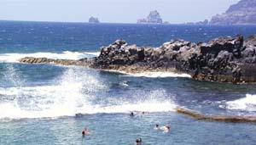
[[[239,0],[0,0],[0,20],[136,23],[152,10],[172,24],[210,20]]]

